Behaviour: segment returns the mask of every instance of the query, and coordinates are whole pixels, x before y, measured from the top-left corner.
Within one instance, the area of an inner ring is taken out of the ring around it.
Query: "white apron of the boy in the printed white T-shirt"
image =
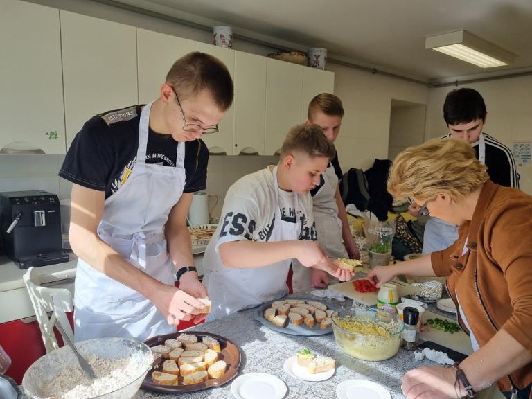
[[[294,197],[296,223],[284,222],[281,219],[279,203],[279,188],[277,184],[277,167],[273,170],[275,187],[275,222],[268,242],[297,240],[301,233],[299,220],[299,198]],[[292,259],[281,260],[256,269],[236,269],[225,267],[220,254],[214,250],[215,242],[211,241],[210,249],[205,254],[205,262],[219,263],[213,270],[206,270],[204,285],[209,292],[213,306],[206,321],[220,319],[226,315],[245,308],[253,308],[272,299],[281,298],[287,294],[286,278]]]

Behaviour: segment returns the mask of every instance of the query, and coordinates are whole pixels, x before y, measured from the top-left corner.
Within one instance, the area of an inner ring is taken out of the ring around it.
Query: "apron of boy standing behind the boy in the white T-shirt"
[[[330,258],[348,258],[344,241],[342,240],[342,220],[338,218],[338,204],[336,189],[338,177],[334,166],[329,163],[323,173],[323,186],[312,197],[312,210],[318,234],[319,245]],[[292,289],[300,292],[310,288],[310,268],[305,267],[294,259],[292,263]]]

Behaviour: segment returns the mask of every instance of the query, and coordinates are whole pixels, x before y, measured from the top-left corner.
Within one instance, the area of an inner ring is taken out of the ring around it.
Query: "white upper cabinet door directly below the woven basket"
[[[267,59],[265,154],[281,149],[288,131],[303,123],[301,101],[303,68],[279,60]]]

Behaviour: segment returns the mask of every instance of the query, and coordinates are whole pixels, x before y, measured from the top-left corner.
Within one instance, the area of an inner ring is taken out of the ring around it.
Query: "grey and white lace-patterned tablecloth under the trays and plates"
[[[301,297],[301,294],[297,295]],[[309,296],[316,300],[314,296]],[[328,300],[323,300],[325,303]],[[335,305],[338,305],[338,303]],[[348,303],[346,303],[348,304]],[[434,308],[436,308],[434,306]],[[402,375],[409,369],[420,366],[434,365],[429,360],[414,363],[414,355],[411,351],[402,348],[396,356],[382,362],[365,362],[356,360],[345,355],[341,348],[335,344],[332,333],[317,337],[299,337],[286,335],[263,326],[254,319],[254,309],[241,310],[229,317],[211,321],[191,328],[189,331],[213,332],[227,337],[240,347],[242,363],[239,375],[245,373],[269,373],[281,378],[287,385],[285,398],[327,399],[336,398],[337,385],[345,380],[364,379],[378,382],[384,385],[393,399],[405,398],[400,386]],[[337,369],[335,374],[326,381],[306,382],[296,380],[283,370],[283,364],[288,357],[303,348],[310,348],[318,355],[330,356],[336,360]],[[175,395],[156,393],[141,389],[135,396],[136,399],[175,399]],[[179,399],[199,398],[233,398],[231,394],[231,382],[222,387],[197,391],[195,393],[181,393]]]

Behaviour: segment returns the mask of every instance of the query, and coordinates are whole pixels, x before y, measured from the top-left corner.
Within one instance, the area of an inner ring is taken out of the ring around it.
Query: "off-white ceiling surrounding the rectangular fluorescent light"
[[[330,58],[421,80],[532,69],[532,0],[118,0],[236,34],[326,47]],[[468,32],[517,55],[508,67],[481,69],[436,51],[425,37]],[[295,47],[295,46],[294,46]]]

